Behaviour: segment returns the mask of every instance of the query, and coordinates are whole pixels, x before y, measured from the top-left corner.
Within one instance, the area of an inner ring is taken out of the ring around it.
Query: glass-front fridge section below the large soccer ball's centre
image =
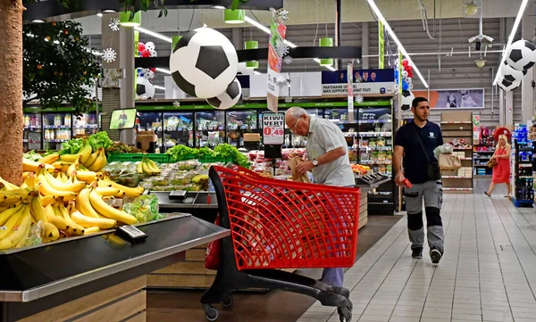
[[[214,148],[225,143],[225,112],[196,112],[196,147]]]

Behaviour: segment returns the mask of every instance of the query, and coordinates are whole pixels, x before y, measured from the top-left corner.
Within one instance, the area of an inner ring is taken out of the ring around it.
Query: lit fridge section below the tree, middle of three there
[[[71,139],[71,113],[43,114],[45,150],[61,150],[62,143]]]

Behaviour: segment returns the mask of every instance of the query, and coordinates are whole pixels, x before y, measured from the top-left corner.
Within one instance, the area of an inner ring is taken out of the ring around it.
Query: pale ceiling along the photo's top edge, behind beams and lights
[[[478,18],[465,16],[465,3],[469,0],[423,0],[428,19],[439,18]],[[484,18],[515,17],[522,0],[482,0]],[[327,5],[326,5],[327,3]],[[381,12],[388,21],[420,20],[418,0],[376,0]],[[335,21],[335,3],[333,0],[285,0],[285,9],[289,11],[289,25],[332,23]],[[327,8],[327,10],[326,10]],[[251,18],[258,18],[264,25],[269,24],[270,12],[247,12]],[[143,12],[142,27],[156,32],[186,31],[203,26],[230,28],[248,27],[247,24],[228,25],[223,21],[223,11],[212,10],[170,10],[167,17],[157,18],[158,12]],[[78,19],[82,23],[84,33],[99,35],[101,23],[97,16]],[[191,27],[190,27],[191,21]],[[342,21],[360,22],[373,21],[365,0],[345,0],[342,2]]]

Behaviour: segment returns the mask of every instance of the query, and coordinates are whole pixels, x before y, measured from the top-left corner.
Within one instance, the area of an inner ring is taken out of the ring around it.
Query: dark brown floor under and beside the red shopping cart
[[[367,226],[359,231],[357,258],[363,256],[374,244],[389,232],[400,216],[373,216]],[[302,270],[300,274],[318,278],[320,269]],[[199,300],[203,292],[155,292],[147,295],[147,321],[149,322],[205,322],[205,313]],[[220,310],[218,322],[294,322],[313,303],[305,295],[272,291],[269,293],[235,293],[235,305],[230,310]]]

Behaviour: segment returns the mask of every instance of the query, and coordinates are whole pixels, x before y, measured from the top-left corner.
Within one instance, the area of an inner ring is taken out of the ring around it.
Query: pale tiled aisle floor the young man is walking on
[[[413,260],[406,219],[345,276],[359,322],[536,321],[536,213],[498,190],[446,194],[446,252],[438,267]],[[317,301],[299,322],[337,322]]]

